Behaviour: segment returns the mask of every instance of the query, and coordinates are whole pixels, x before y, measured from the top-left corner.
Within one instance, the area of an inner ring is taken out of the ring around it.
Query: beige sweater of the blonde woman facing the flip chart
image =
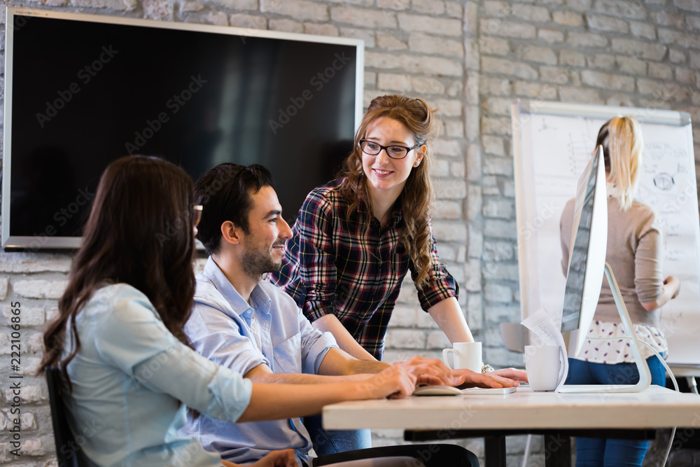
[[[566,203],[561,213],[561,267],[568,272],[568,252],[571,243],[575,200]],[[640,302],[653,302],[664,293],[661,232],[650,207],[633,202],[626,211],[619,209],[615,197],[608,196],[608,251],[605,261],[615,274],[622,300],[632,323],[659,326],[659,309],[647,312]],[[619,323],[619,314],[612,298],[608,279],[603,277],[601,298],[598,299],[595,320]]]

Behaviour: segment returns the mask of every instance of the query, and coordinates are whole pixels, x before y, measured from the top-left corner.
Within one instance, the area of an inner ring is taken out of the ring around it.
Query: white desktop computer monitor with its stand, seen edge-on
[[[570,355],[577,356],[584,340],[591,339],[587,333],[596,313],[605,274],[617,305],[622,328],[628,336],[621,338],[631,340],[630,347],[639,370],[639,382],[622,385],[564,385],[561,392],[639,392],[651,384],[649,367],[639,351],[639,342],[633,332],[617,281],[610,265],[605,263],[608,247],[608,195],[605,186],[603,146],[598,146],[578,181],[561,330],[578,330],[577,335],[572,335],[576,338],[570,342]]]

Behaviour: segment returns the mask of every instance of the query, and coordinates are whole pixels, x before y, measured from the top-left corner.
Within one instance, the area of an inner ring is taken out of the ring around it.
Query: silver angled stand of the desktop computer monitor
[[[610,284],[610,290],[612,291],[612,298],[615,299],[619,319],[622,322],[622,328],[626,334],[626,337],[617,338],[632,341],[630,347],[632,349],[634,361],[637,365],[637,370],[639,371],[639,382],[637,382],[637,384],[564,384],[559,390],[561,393],[641,392],[647,389],[647,387],[649,387],[651,384],[652,375],[649,372],[649,365],[647,365],[647,361],[645,358],[642,358],[642,354],[639,351],[639,342],[637,341],[637,337],[632,329],[632,321],[629,319],[629,313],[627,312],[627,308],[624,306],[624,302],[620,296],[615,275],[612,274],[610,265],[607,262],[605,262],[605,277],[608,278],[608,284]],[[587,329],[579,329],[579,338],[585,337],[581,336],[580,334],[587,332]]]

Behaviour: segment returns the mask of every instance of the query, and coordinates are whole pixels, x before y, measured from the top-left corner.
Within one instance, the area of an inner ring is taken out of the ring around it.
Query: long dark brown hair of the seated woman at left
[[[66,366],[80,349],[76,316],[105,284],[130,284],[143,292],[166,328],[189,345],[183,327],[195,294],[194,184],[183,169],[159,158],[128,156],[102,174],[73,258],[59,316],[44,333],[40,372]],[[65,358],[66,326],[73,341]]]

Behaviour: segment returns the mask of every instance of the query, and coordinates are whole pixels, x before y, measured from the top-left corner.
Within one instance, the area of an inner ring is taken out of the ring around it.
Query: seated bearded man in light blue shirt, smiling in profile
[[[390,366],[346,354],[330,333],[311,326],[293,298],[262,280],[279,270],[291,237],[265,167],[217,165],[195,188],[203,206],[197,238],[210,255],[197,274],[195,307],[185,328],[195,350],[256,383],[366,379]],[[467,379],[435,359],[414,357],[395,365],[410,368],[419,382],[457,385]],[[468,380],[496,386],[505,381],[476,374]],[[190,414],[181,433],[197,436],[206,449],[236,463],[289,447],[302,465],[311,466],[316,456],[298,418],[230,424]]]

